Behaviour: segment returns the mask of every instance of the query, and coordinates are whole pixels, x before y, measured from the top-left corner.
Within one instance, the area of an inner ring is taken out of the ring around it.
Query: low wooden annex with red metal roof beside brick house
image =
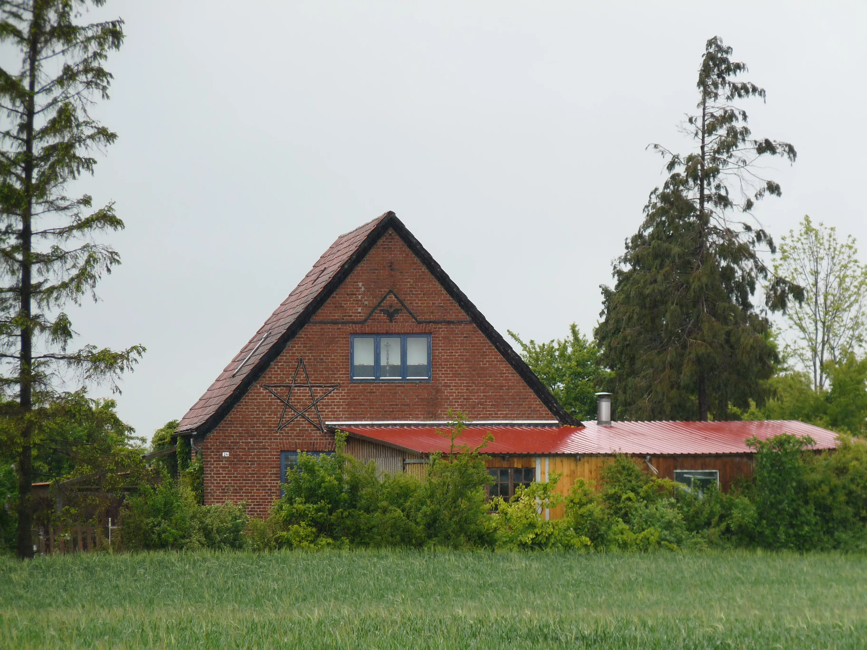
[[[407,471],[423,476],[427,458],[447,452],[446,422],[332,422],[332,431],[346,432],[347,452],[373,460],[381,471]],[[748,439],[769,439],[780,433],[809,436],[817,451],[837,446],[837,434],[796,420],[738,422],[611,422],[561,426],[551,421],[473,422],[458,439],[478,446],[487,433],[493,442],[482,452],[496,483],[493,494],[512,497],[515,487],[531,480],[562,475],[557,491],[567,494],[577,478],[599,482],[606,462],[616,454],[637,458],[660,478],[684,484],[714,480],[727,491],[735,477],[753,473],[754,450]],[[546,513],[562,517],[563,506]]]

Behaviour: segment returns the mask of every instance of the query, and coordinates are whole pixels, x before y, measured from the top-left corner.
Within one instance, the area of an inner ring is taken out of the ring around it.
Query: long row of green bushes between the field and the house
[[[342,452],[300,453],[264,520],[243,504],[199,505],[199,468],[146,484],[124,507],[127,549],[327,549],[442,547],[499,550],[766,548],[867,549],[867,445],[841,439],[836,452],[805,451],[778,436],[756,448],[755,476],[724,493],[692,491],[643,471],[636,460],[605,465],[597,489],[578,479],[568,495],[550,482],[486,500],[479,449],[436,454],[427,476],[381,474]],[[562,519],[544,511],[564,505]]]

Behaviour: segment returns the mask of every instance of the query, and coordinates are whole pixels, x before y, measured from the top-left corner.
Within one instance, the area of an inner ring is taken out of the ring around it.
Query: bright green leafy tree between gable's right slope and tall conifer
[[[508,330],[521,347],[521,357],[557,401],[577,419],[596,417],[596,390],[609,373],[599,364],[599,350],[573,322],[569,336],[557,341],[525,343]]]

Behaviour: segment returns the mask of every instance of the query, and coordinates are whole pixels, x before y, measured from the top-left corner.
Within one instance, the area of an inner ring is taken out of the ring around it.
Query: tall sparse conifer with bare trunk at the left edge
[[[118,253],[95,241],[123,222],[113,205],[93,208],[88,195],[70,197],[67,185],[92,173],[96,151],[117,135],[89,113],[95,97],[108,99],[112,75],[103,63],[123,41],[121,20],[79,23],[88,6],[104,0],[2,0],[0,42],[0,385],[18,408],[4,426],[16,447],[19,556],[33,555],[31,490],[36,418],[49,404],[58,377],[115,380],[144,352],[86,345],[70,350],[75,333],[68,303],[95,298],[103,272]]]

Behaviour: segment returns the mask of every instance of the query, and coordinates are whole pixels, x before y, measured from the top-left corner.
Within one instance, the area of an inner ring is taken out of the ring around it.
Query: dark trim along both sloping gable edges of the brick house
[[[557,421],[565,425],[583,426],[583,424],[572,417],[563,406],[560,406],[557,399],[547,388],[544,387],[544,384],[539,380],[536,374],[533,373],[530,367],[527,366],[524,360],[521,359],[518,353],[512,349],[512,346],[510,346],[499,332],[493,328],[491,323],[487,322],[485,316],[482,315],[473,302],[470,302],[470,299],[466,297],[464,292],[453,283],[452,278],[447,275],[446,271],[442,270],[440,264],[433,259],[431,254],[427,252],[419,240],[407,230],[407,226],[397,218],[397,215],[394,214],[393,211],[388,211],[383,215],[380,222],[376,224],[370,232],[368,232],[367,237],[364,237],[362,243],[358,245],[358,248],[356,248],[346,262],[342,264],[341,268],[337,270],[334,276],[331,277],[329,282],[316,295],[316,297],[310,301],[307,307],[303,309],[295,321],[286,328],[286,331],[280,335],[277,341],[271,344],[271,348],[268,348],[268,351],[262,355],[262,358],[260,358],[256,365],[251,368],[250,372],[244,376],[244,379],[238,383],[238,386],[235,387],[212,416],[195,429],[188,429],[179,433],[196,432],[199,434],[204,433],[206,435],[212,432],[225,416],[231,412],[231,409],[238,404],[238,401],[241,400],[244,394],[250,390],[253,384],[262,377],[265,370],[267,370],[268,367],[277,360],[277,357],[280,356],[280,354],[283,354],[292,339],[294,339],[307,323],[310,322],[313,315],[323,307],[325,302],[328,302],[334,292],[346,281],[349,274],[355,270],[358,263],[367,256],[370,250],[373,249],[375,244],[379,242],[389,229],[394,229],[398,234],[398,237],[401,237],[403,240],[403,243],[407,244],[409,250],[412,250],[415,256],[421,260],[421,263],[425,265],[431,275],[433,275],[433,277],[442,285],[443,289],[446,289],[447,294],[452,297],[454,302],[458,303],[460,309],[464,310],[464,313],[470,317],[470,320],[473,321],[473,324],[481,330],[482,334],[486,336],[488,341],[491,341],[493,347],[496,348],[505,361],[512,366],[512,369],[518,373],[518,376],[525,381],[527,386],[529,386],[532,392],[536,394],[544,406],[555,418],[557,418]]]

